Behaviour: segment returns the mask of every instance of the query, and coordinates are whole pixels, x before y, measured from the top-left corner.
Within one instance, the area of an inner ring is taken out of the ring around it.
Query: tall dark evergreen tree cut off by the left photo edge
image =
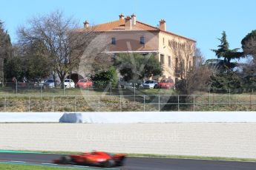
[[[12,44],[10,42],[10,35],[4,30],[4,24],[0,21],[0,82],[4,81],[4,65],[7,59],[12,55]]]

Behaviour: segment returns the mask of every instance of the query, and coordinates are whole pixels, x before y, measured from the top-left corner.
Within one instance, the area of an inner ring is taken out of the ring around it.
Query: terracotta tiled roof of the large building
[[[181,38],[186,38],[184,36],[177,35],[177,34],[169,32],[169,31],[160,30],[159,27],[153,27],[149,24],[145,24],[140,21],[136,21],[136,24],[131,27],[131,30],[125,30],[125,19],[119,19],[119,20],[107,22],[104,24],[98,24],[98,25],[88,27],[88,28],[77,29],[77,31],[79,31],[79,32],[83,32],[86,30],[93,30],[93,31],[99,32],[99,33],[100,32],[113,32],[113,31],[162,31],[164,33],[179,36]],[[194,41],[191,38],[186,38],[186,39],[188,39],[189,41]]]

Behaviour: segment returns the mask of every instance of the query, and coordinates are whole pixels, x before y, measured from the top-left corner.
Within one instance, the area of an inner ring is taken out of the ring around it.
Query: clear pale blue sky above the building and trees
[[[206,59],[216,58],[211,49],[217,49],[223,30],[226,31],[230,48],[240,48],[240,41],[256,30],[255,0],[1,0],[0,19],[17,41],[16,30],[26,25],[33,16],[62,10],[82,22],[102,24],[119,19],[119,14],[157,26],[165,19],[166,30],[197,41],[197,47]]]

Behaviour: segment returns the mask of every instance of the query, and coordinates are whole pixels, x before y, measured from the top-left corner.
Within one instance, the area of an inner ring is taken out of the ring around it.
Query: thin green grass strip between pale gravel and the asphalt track
[[[0,152],[4,152],[3,150]],[[11,151],[10,151],[11,152]],[[81,152],[65,152],[65,151],[14,151],[27,153],[42,153],[42,154],[81,154]],[[240,157],[205,157],[191,155],[171,155],[171,154],[132,154],[126,153],[128,157],[156,157],[156,158],[172,158],[172,159],[191,159],[191,160],[226,160],[240,162],[256,162],[255,158],[240,158]]]

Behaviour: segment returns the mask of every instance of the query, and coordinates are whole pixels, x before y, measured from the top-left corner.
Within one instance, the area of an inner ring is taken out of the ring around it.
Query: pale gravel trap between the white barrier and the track
[[[256,158],[256,123],[0,123],[0,149]]]

